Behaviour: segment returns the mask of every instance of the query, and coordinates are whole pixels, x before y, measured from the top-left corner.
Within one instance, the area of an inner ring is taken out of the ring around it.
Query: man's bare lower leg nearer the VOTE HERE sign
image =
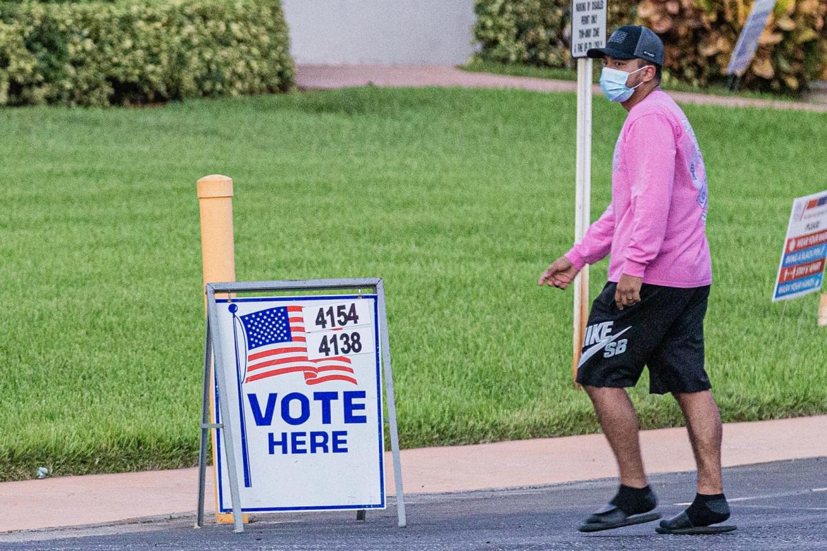
[[[638,414],[624,388],[588,387],[591,403],[603,434],[609,440],[620,470],[620,483],[624,486],[643,488],[648,485],[643,472],[638,439]]]

